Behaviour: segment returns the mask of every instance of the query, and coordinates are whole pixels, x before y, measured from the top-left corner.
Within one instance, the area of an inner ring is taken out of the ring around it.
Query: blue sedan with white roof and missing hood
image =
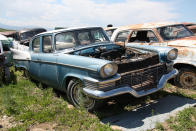
[[[67,28],[34,36],[29,52],[12,49],[15,66],[67,93],[75,106],[93,110],[99,99],[130,93],[142,97],[177,74],[171,47],[119,46],[100,27]]]

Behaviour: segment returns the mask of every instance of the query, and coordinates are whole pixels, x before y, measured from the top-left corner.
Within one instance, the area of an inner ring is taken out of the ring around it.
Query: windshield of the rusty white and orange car
[[[160,27],[157,28],[157,30],[165,41],[193,36],[192,32],[185,28],[184,25]]]

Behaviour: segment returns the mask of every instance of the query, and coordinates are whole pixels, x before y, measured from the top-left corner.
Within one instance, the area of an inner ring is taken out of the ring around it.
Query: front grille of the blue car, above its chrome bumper
[[[85,87],[93,90],[108,91],[122,86],[130,86],[136,91],[156,88],[163,74],[166,74],[165,64],[156,64],[148,68],[121,73],[121,79],[113,82],[91,82],[85,80]]]

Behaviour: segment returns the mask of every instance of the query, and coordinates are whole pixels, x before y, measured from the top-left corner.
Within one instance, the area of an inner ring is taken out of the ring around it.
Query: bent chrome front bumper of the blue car
[[[159,80],[159,83],[157,84],[157,88],[152,88],[149,90],[141,90],[141,91],[136,91],[130,86],[124,86],[116,89],[112,89],[109,91],[99,91],[99,90],[94,90],[94,89],[89,89],[89,88],[83,88],[83,91],[85,94],[87,94],[89,97],[95,98],[95,99],[105,99],[125,93],[130,93],[134,97],[142,97],[151,93],[154,93],[164,87],[166,82],[175,77],[178,74],[178,71],[176,69],[173,69],[171,72],[168,74],[164,74],[161,79]]]

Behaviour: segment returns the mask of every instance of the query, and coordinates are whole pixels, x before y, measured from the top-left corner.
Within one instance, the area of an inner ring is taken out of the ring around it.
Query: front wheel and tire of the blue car
[[[82,92],[83,84],[78,79],[69,81],[67,87],[67,98],[75,106],[94,111],[102,105],[102,100],[95,100]]]

